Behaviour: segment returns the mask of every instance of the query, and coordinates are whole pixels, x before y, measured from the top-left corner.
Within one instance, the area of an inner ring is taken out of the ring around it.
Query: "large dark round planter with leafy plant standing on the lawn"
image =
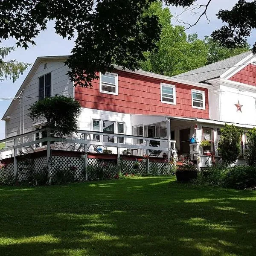
[[[190,162],[183,166],[179,166],[176,169],[176,179],[177,181],[187,182],[192,179],[196,179],[198,175],[198,170],[195,165]]]

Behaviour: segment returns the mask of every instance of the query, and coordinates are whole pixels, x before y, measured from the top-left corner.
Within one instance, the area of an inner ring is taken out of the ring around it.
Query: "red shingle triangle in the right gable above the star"
[[[256,65],[248,64],[229,80],[256,86]]]

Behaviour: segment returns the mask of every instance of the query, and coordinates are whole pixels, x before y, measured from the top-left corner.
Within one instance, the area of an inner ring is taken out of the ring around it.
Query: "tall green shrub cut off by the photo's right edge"
[[[248,165],[256,165],[256,128],[247,132],[247,150],[245,151],[245,158]]]

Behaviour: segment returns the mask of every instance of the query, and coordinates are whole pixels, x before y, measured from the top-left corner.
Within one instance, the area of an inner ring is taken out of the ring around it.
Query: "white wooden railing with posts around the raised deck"
[[[62,149],[66,151],[78,151],[81,153],[83,152],[83,154],[85,155],[84,168],[87,169],[87,154],[90,150],[90,147],[94,148],[95,146],[103,146],[105,148],[116,148],[118,161],[120,159],[121,148],[141,150],[143,154],[147,155],[149,155],[149,151],[164,151],[166,152],[166,156],[168,157],[168,159],[170,159],[170,157],[172,156],[172,149],[175,148],[176,143],[176,140],[148,138],[143,136],[133,136],[127,134],[108,134],[103,132],[85,130],[77,130],[74,136],[69,138],[51,137],[51,132],[53,131],[54,129],[52,128],[42,128],[37,131],[31,131],[25,134],[20,134],[17,136],[6,138],[4,140],[0,140],[0,143],[8,144],[6,148],[0,150],[1,159],[7,158],[4,157],[4,152],[8,153],[7,156],[9,157],[13,156],[14,173],[17,173],[17,156],[19,151],[22,151],[23,153],[32,153],[44,149],[47,150],[47,158],[49,159],[51,157],[51,150]],[[35,134],[38,133],[47,134],[47,137],[35,140]],[[93,140],[93,135],[99,135],[99,137],[101,138],[103,136],[113,136],[115,138],[116,143],[104,142],[102,140]],[[120,138],[123,138],[123,143],[120,143]],[[136,139],[143,140],[143,145],[134,144],[134,140]],[[160,142],[160,146],[151,146],[150,141]],[[161,143],[165,144],[165,146],[162,146]],[[64,146],[62,147],[61,145]]]

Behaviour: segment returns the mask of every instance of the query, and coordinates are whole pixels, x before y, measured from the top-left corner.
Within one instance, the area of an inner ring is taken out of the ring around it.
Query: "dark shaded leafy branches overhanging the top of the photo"
[[[150,4],[156,1],[2,0],[0,40],[13,37],[17,46],[27,48],[29,44],[35,44],[34,38],[47,28],[47,22],[55,20],[58,35],[67,39],[76,35],[72,55],[66,61],[70,79],[81,86],[91,86],[92,79],[99,78],[97,72],[113,70],[113,60],[124,69],[136,70],[145,60],[143,52],[157,49],[161,32],[159,20],[156,15],[144,15]],[[205,5],[197,5],[195,0],[163,2],[184,8],[204,7],[201,17],[206,15],[211,1],[208,0]],[[254,10],[255,0],[250,5],[239,0],[230,12],[221,11],[218,17],[229,25],[214,33],[214,39],[229,46],[243,43],[244,36],[249,35],[250,29],[255,26]],[[256,46],[253,50],[256,51]]]

